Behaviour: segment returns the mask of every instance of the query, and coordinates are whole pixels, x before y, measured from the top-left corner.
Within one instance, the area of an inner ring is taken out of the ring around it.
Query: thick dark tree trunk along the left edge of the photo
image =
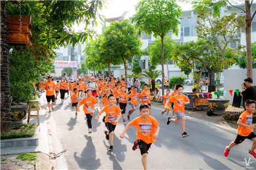
[[[11,131],[10,67],[8,29],[6,24],[6,1],[0,0],[0,132]]]

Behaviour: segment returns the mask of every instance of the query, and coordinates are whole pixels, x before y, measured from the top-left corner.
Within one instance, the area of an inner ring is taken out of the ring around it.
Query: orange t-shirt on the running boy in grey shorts
[[[183,102],[189,101],[188,96],[186,96],[186,95],[172,96],[172,97],[170,97],[169,100],[172,103],[174,103],[174,113],[176,113],[177,111],[184,113],[185,112],[185,104],[183,104]]]

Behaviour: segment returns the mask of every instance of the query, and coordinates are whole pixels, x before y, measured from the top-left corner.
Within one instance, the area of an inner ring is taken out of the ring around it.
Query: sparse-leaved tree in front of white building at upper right
[[[228,69],[228,64],[225,63],[228,59],[225,57],[226,48],[228,48],[229,43],[236,43],[239,40],[238,37],[241,37],[241,31],[239,30],[245,25],[245,16],[237,16],[237,13],[232,13],[219,18],[212,14],[212,11],[201,11],[197,16],[197,36],[216,46],[219,52],[218,55],[221,54],[222,61],[224,61],[223,69]],[[242,54],[240,51],[242,47],[240,45],[234,49],[229,48],[228,53],[231,54],[237,51],[237,53]]]

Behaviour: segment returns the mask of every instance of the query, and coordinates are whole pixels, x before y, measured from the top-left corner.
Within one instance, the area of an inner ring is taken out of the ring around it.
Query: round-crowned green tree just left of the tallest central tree
[[[131,62],[134,56],[141,54],[141,39],[138,38],[135,27],[128,20],[122,22],[111,22],[105,29],[101,42],[101,48],[108,49],[106,53],[115,60],[121,60],[125,66],[125,76],[127,75],[127,62]]]

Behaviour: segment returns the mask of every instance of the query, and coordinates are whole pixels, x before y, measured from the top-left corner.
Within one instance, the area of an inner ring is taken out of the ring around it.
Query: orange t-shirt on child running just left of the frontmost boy
[[[114,105],[113,108],[109,108],[109,105],[106,105],[102,111],[107,114],[105,122],[110,122],[110,124],[116,125],[115,120],[117,120],[118,113],[121,113],[121,109],[117,105]]]

